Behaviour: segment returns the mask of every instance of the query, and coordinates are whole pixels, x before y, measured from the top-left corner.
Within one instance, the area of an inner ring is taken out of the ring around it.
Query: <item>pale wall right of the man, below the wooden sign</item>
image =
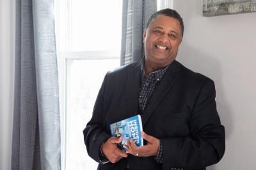
[[[175,0],[184,18],[177,60],[212,78],[222,124],[223,159],[208,169],[256,169],[256,13],[202,17],[203,0]]]

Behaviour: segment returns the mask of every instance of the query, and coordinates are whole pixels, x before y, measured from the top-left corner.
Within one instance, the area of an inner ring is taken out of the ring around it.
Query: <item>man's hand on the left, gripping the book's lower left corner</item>
[[[118,162],[118,160],[128,156],[128,153],[125,153],[117,147],[117,144],[121,143],[122,140],[122,136],[120,138],[111,137],[102,144],[102,152],[111,163]]]

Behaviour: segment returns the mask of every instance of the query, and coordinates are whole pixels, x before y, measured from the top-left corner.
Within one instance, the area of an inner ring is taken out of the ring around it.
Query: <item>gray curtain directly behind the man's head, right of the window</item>
[[[157,0],[123,1],[121,66],[143,57],[143,30],[156,10]]]

